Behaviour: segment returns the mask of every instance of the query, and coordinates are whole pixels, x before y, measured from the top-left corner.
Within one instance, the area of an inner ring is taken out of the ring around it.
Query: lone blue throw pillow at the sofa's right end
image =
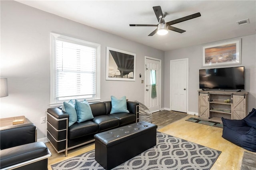
[[[112,113],[129,113],[127,110],[127,104],[126,104],[126,96],[123,96],[122,98],[118,99],[115,96],[111,96],[111,111]]]

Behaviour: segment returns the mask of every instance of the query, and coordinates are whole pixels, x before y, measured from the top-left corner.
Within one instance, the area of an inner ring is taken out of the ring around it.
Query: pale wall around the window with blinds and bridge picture
[[[9,96],[0,98],[0,117],[24,115],[38,128],[38,139],[46,137],[46,116],[50,103],[50,32],[101,45],[101,100],[127,96],[144,102],[144,57],[162,60],[164,52],[122,37],[43,12],[15,1],[1,5],[1,77],[8,78]],[[106,81],[106,47],[136,54],[136,81]],[[142,74],[142,78],[139,78]],[[162,77],[164,67],[162,66]],[[164,101],[162,78],[162,101]],[[164,107],[164,102],[162,106]]]

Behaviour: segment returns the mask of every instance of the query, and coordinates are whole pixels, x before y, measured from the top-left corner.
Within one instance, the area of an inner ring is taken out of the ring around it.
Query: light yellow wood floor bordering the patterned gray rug
[[[189,117],[198,116],[190,115],[158,129],[158,131],[222,151],[211,170],[240,170],[243,153],[248,150],[242,149],[241,147],[223,139],[221,137],[222,128],[185,121]],[[68,150],[68,156],[65,157],[64,152],[57,154],[50,143],[46,143],[46,145],[52,152],[52,157],[48,159],[49,170],[52,169],[50,167],[52,164],[94,149],[94,143],[91,143],[76,149]]]

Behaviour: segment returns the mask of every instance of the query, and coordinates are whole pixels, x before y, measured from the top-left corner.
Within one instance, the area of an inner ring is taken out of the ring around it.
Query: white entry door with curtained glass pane
[[[160,110],[161,104],[161,60],[145,59],[145,106],[152,112]]]

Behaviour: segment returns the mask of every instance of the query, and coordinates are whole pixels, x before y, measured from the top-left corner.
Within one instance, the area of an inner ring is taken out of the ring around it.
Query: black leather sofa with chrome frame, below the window
[[[91,103],[93,119],[81,123],[74,123],[68,127],[68,113],[61,107],[47,109],[47,137],[56,150],[64,152],[93,142],[94,135],[117,127],[122,127],[139,121],[139,107],[137,102],[127,101],[127,109],[130,113],[113,113],[111,102]]]

